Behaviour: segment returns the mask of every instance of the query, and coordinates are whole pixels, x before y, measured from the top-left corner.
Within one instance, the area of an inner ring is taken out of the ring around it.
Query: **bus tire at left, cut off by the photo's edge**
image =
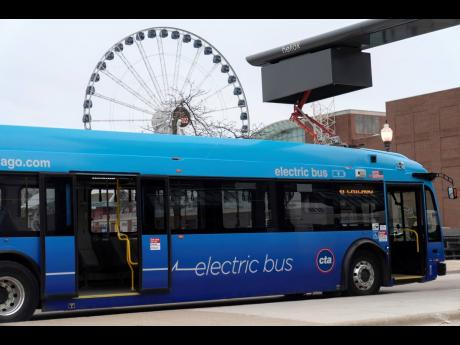
[[[0,323],[29,320],[39,301],[39,286],[29,269],[0,262]]]

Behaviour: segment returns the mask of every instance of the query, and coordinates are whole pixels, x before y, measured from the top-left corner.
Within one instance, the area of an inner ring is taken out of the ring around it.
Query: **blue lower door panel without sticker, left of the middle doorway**
[[[75,237],[45,237],[45,295],[75,294]]]

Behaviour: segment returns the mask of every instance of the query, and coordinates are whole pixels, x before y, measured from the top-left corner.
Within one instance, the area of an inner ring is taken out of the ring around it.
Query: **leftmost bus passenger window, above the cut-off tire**
[[[0,233],[15,236],[40,231],[38,179],[26,175],[0,175]]]

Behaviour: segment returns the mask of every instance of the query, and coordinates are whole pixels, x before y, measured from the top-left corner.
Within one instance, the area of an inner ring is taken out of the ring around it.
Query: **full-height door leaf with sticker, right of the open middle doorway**
[[[142,289],[168,289],[171,273],[169,181],[141,178]]]

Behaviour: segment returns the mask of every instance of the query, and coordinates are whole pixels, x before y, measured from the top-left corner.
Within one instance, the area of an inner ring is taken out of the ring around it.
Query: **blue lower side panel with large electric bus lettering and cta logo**
[[[372,231],[174,235],[169,293],[48,301],[45,308],[66,309],[68,303],[84,309],[332,291],[340,283],[346,250],[354,241],[371,237]],[[164,263],[150,263],[151,268],[164,267]]]

